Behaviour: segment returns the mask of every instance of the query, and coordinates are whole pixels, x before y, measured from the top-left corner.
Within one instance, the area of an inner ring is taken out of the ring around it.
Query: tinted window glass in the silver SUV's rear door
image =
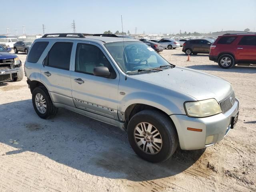
[[[48,54],[48,66],[69,70],[72,42],[56,42]]]

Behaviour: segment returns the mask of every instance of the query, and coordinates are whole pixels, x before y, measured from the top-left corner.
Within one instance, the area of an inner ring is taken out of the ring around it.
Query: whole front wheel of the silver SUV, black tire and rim
[[[135,114],[128,123],[128,140],[134,152],[149,162],[163,162],[178,146],[176,128],[171,119],[154,110]]]

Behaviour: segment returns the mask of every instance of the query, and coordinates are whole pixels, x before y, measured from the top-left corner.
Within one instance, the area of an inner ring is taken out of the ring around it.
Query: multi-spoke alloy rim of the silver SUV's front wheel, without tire
[[[157,154],[162,148],[162,136],[158,129],[147,122],[139,123],[134,129],[137,146],[146,154]]]

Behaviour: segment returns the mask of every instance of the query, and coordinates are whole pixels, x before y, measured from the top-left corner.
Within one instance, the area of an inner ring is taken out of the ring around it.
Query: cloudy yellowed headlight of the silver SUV
[[[216,99],[185,102],[184,107],[190,117],[208,117],[221,113],[221,108]]]

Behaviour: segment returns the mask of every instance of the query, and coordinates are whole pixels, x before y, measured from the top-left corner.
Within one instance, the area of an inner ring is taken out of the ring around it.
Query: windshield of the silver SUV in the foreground
[[[162,56],[143,42],[110,42],[105,46],[125,73],[164,65],[170,66]]]

